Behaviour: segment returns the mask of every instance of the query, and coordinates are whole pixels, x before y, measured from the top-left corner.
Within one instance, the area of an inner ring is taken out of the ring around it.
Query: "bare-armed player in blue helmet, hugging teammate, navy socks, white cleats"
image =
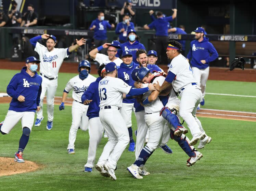
[[[159,75],[159,73],[152,74],[149,69],[142,67],[139,69],[137,74],[138,79],[144,83],[148,84],[157,83],[163,84],[165,77]],[[127,170],[138,179],[142,179],[141,175],[148,175],[148,172],[145,172],[144,165],[149,157],[152,155],[154,150],[161,143],[165,119],[159,116],[159,112],[161,111],[161,107],[163,106],[162,101],[158,98],[159,91],[146,92],[142,97],[142,104],[145,109],[145,122],[149,127],[149,141],[146,146],[141,150],[139,157],[136,159],[135,163],[127,168]],[[168,95],[166,93],[165,95]],[[164,93],[163,93],[164,95]],[[170,132],[170,131],[169,131]],[[143,172],[144,171],[144,172]],[[142,173],[143,172],[143,173]]]

